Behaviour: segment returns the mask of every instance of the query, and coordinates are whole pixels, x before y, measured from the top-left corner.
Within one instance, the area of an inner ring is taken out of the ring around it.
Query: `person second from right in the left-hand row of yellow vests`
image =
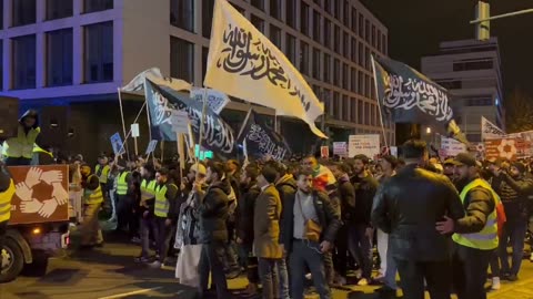
[[[140,224],[141,224],[141,255],[137,257],[135,262],[150,261],[150,230],[157,231],[153,205],[155,204],[155,171],[153,165],[142,165],[140,169],[141,182],[141,200],[139,207]]]

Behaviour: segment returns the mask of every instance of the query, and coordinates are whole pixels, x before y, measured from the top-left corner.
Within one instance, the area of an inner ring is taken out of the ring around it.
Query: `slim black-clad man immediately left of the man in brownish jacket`
[[[252,257],[253,247],[253,212],[255,199],[261,189],[258,186],[259,168],[254,164],[247,165],[241,172],[241,198],[237,206],[237,244],[241,265],[247,269],[249,285],[242,295],[254,296],[258,293],[258,258]]]

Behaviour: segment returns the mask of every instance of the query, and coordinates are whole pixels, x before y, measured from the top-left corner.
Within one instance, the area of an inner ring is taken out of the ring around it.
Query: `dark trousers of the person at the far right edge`
[[[509,275],[519,275],[522,258],[524,257],[524,239],[527,229],[526,220],[511,220],[503,225],[502,236],[497,255],[502,264],[502,272]],[[511,240],[513,246],[512,265],[509,266],[507,244]]]

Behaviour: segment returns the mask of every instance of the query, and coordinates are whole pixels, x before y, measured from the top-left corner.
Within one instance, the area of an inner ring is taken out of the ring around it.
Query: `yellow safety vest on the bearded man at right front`
[[[452,239],[462,246],[482,249],[482,250],[491,250],[497,248],[499,239],[497,239],[497,214],[496,214],[496,206],[500,203],[500,196],[492,189],[491,185],[486,183],[484,179],[476,178],[472,181],[469,185],[466,185],[463,190],[461,192],[461,202],[464,205],[464,199],[466,198],[466,194],[475,187],[483,187],[489,189],[494,198],[494,210],[486,218],[485,226],[479,233],[473,234],[453,234]]]

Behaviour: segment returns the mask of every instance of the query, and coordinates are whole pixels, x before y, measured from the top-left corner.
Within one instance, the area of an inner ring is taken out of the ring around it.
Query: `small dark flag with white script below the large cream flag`
[[[250,155],[255,158],[271,157],[283,161],[291,155],[291,150],[283,136],[259,122],[258,115],[251,109],[239,132],[238,142],[245,144],[247,157]]]

